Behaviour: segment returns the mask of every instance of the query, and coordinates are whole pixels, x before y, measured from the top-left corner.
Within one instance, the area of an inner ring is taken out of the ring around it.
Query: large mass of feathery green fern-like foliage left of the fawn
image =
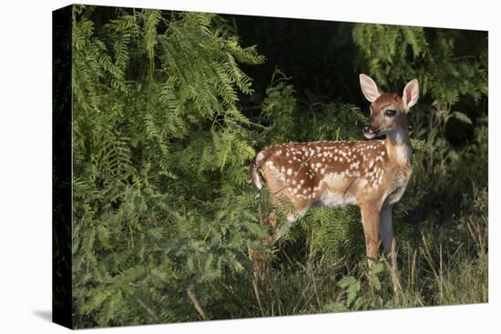
[[[237,64],[263,57],[215,15],[119,9],[97,30],[93,14],[73,21],[75,321],[197,319],[193,296],[249,269],[263,233],[236,103]]]

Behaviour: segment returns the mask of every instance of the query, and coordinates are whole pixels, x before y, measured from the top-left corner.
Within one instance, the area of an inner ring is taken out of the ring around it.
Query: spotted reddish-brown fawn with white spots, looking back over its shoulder
[[[360,207],[369,264],[378,258],[381,236],[395,273],[392,206],[412,173],[406,114],[417,102],[419,86],[417,80],[410,81],[402,97],[384,93],[369,76],[360,75],[360,86],[371,102],[363,134],[383,139],[265,147],[254,157],[251,180],[255,187],[270,189],[273,203],[291,202],[294,212],[288,215],[288,226],[314,205]]]

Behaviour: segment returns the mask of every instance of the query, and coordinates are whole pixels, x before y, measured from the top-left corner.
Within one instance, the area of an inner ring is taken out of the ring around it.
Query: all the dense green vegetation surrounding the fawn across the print
[[[260,19],[260,33],[302,35],[261,48],[245,17],[74,7],[74,325],[486,302],[486,34]],[[315,52],[334,67],[294,71]],[[394,209],[402,290],[383,262],[367,268],[356,207],[312,209],[254,278],[248,248],[271,231],[251,158],[362,139],[362,72],[398,93],[421,85]]]

